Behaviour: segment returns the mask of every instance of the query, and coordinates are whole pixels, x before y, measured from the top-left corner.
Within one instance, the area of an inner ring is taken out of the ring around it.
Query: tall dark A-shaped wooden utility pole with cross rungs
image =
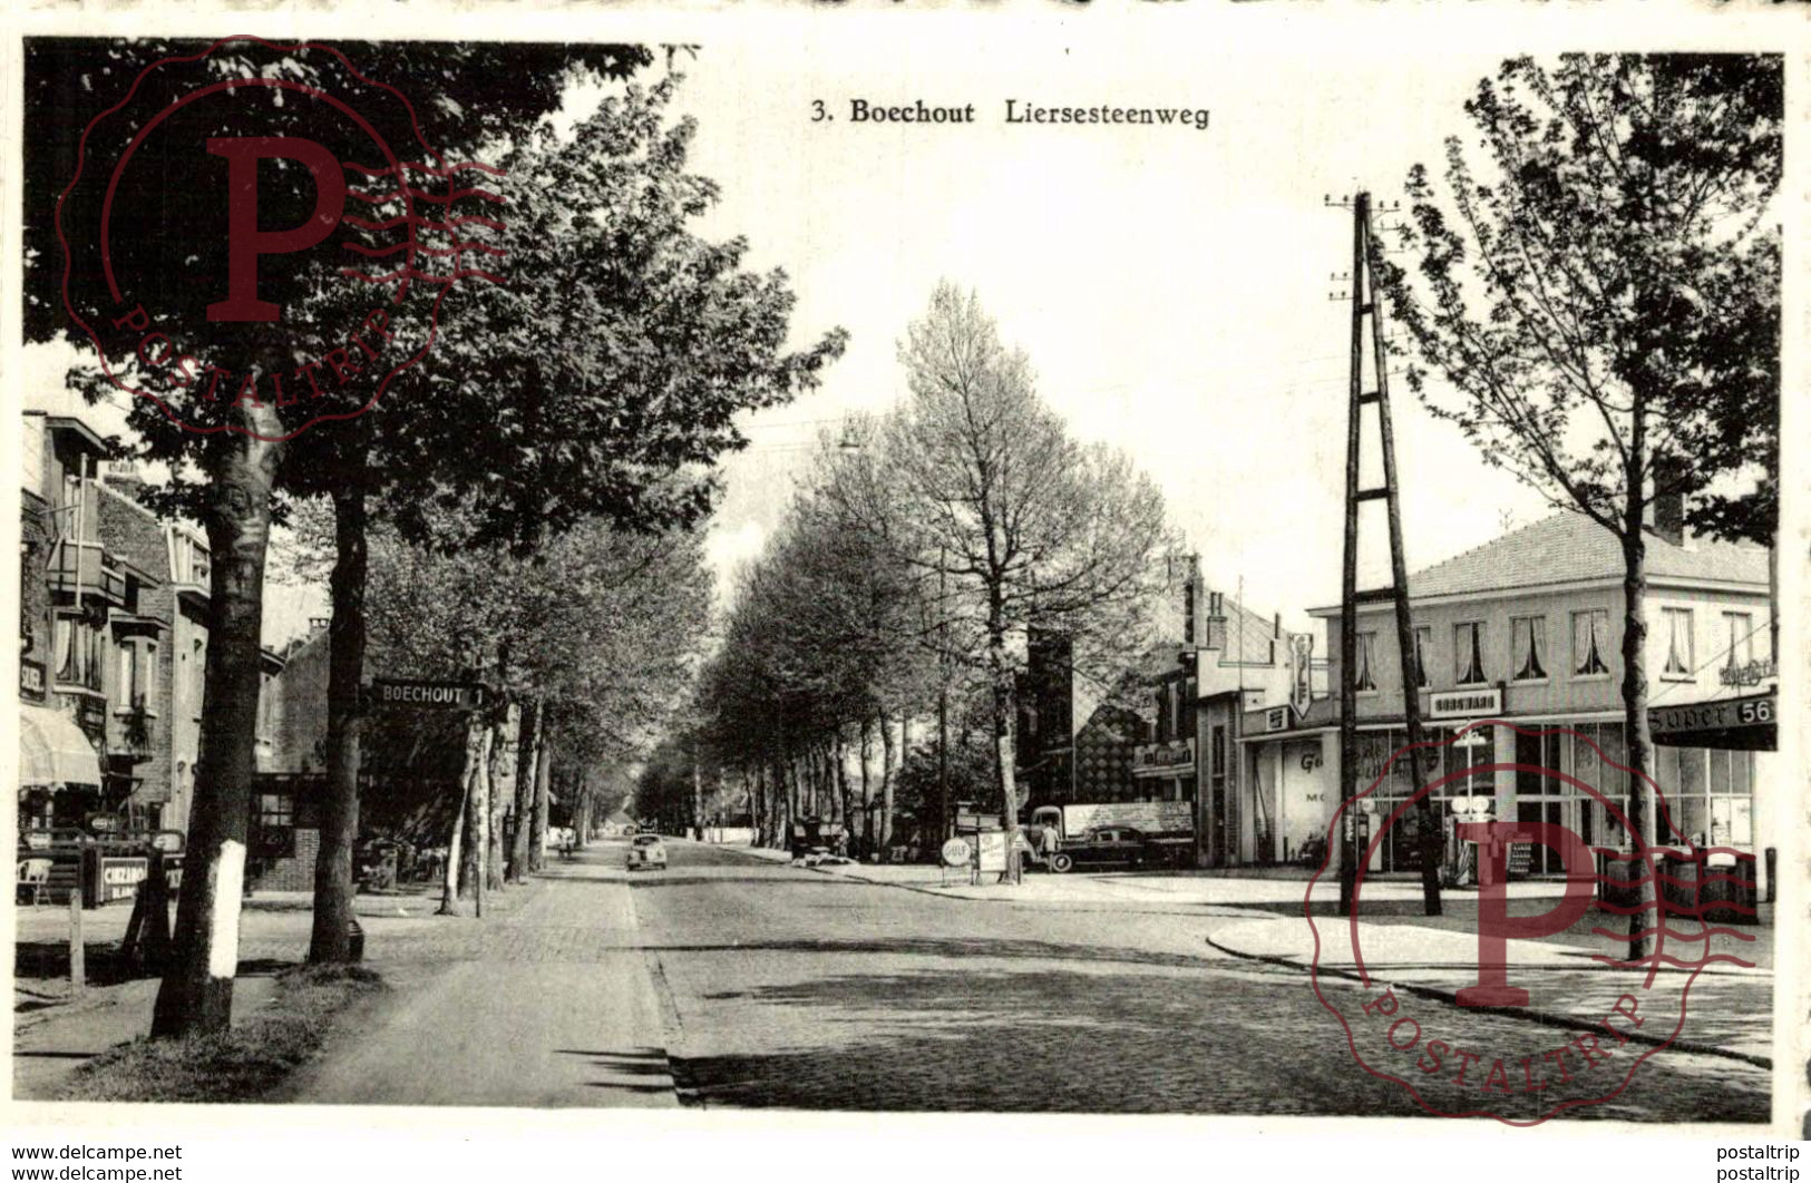
[[[1331,203],[1329,204],[1344,204]],[[1340,912],[1349,913],[1364,859],[1355,798],[1358,796],[1358,606],[1391,601],[1396,610],[1396,646],[1402,669],[1402,715],[1409,734],[1405,752],[1409,785],[1422,789],[1422,691],[1420,657],[1414,651],[1414,624],[1409,617],[1409,573],[1402,557],[1402,510],[1396,490],[1396,443],[1389,421],[1389,349],[1384,342],[1384,315],[1376,304],[1376,237],[1371,226],[1371,194],[1353,197],[1353,270],[1351,270],[1351,383],[1346,407],[1346,561],[1340,584],[1340,800],[1347,803],[1353,839],[1340,843]],[[1364,389],[1365,318],[1371,320],[1371,360],[1376,387]],[[1365,405],[1376,407],[1378,445],[1384,483],[1360,488],[1358,441]],[[1389,516],[1387,588],[1358,590],[1358,505],[1382,499]],[[1375,653],[1373,653],[1375,658]],[[1434,803],[1429,794],[1416,798],[1420,830],[1422,903],[1427,915],[1440,915],[1440,839]]]

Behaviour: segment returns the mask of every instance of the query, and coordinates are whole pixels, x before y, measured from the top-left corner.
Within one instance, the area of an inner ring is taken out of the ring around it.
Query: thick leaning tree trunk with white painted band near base
[[[283,432],[275,409],[239,409],[246,427]],[[212,554],[208,648],[190,805],[188,857],[176,908],[176,942],[158,988],[152,1035],[226,1031],[239,966],[252,776],[257,771],[259,642],[264,624],[264,555],[270,494],[283,445],[235,440],[210,474],[206,532]]]

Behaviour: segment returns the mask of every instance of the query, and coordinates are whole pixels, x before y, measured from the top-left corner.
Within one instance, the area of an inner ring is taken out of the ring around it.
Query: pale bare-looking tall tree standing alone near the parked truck
[[[875,496],[855,510],[924,582],[936,606],[925,635],[987,680],[1011,828],[1029,629],[1067,635],[1078,671],[1110,684],[1150,637],[1174,535],[1155,485],[1126,456],[1068,434],[1030,360],[1001,345],[973,293],[940,284],[900,362],[909,396],[884,425]]]

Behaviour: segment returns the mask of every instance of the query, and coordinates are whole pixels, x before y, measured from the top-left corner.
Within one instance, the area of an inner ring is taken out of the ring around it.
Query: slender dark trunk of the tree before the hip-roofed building
[[[1652,827],[1648,825],[1648,767],[1653,751],[1653,736],[1648,731],[1648,541],[1643,535],[1643,517],[1646,516],[1646,497],[1641,483],[1641,441],[1643,416],[1637,409],[1635,429],[1632,432],[1634,479],[1628,488],[1626,516],[1623,519],[1623,733],[1626,736],[1628,778],[1628,828],[1634,830],[1634,854],[1637,863],[1623,863],[1621,872],[1637,881],[1635,912],[1628,917],[1628,961],[1641,961],[1648,953],[1648,939],[1641,933],[1657,928],[1666,919],[1659,906],[1653,875],[1659,868],[1650,857]],[[1608,772],[1608,769],[1605,769]],[[1592,785],[1599,789],[1599,785]]]

